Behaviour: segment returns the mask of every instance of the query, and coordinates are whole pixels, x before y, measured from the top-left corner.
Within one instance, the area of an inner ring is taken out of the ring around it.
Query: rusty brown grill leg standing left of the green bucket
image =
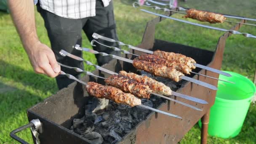
[[[201,144],[207,144],[207,135],[208,135],[208,124],[209,124],[210,109],[205,115],[201,118],[202,129],[201,129]]]

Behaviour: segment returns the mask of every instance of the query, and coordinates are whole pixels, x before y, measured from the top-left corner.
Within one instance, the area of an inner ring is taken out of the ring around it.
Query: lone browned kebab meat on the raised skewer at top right
[[[187,10],[185,18],[197,19],[198,21],[208,21],[211,24],[223,23],[226,18],[222,14],[211,13],[207,11],[199,11],[196,9]]]

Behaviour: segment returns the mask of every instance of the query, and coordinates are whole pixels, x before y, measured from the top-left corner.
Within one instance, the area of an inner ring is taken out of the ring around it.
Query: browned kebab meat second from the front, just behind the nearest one
[[[152,92],[148,85],[139,83],[124,75],[112,75],[105,80],[107,85],[120,88],[124,92],[128,92],[139,98],[149,99]]]

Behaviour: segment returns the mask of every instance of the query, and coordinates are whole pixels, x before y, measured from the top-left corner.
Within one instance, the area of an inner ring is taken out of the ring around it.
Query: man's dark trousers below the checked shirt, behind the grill
[[[55,53],[56,59],[61,64],[65,64],[71,67],[79,67],[83,69],[83,61],[77,61],[69,58],[68,56],[63,57],[59,54],[61,49],[72,53],[76,56],[82,57],[82,51],[78,51],[73,46],[76,44],[82,45],[82,30],[85,32],[88,40],[93,40],[93,33],[96,32],[99,35],[117,39],[115,29],[115,19],[113,12],[113,0],[107,7],[104,7],[101,0],[96,0],[96,16],[88,17],[84,19],[67,19],[57,16],[49,11],[46,11],[37,4],[37,11],[41,14],[45,22],[45,28],[48,32],[48,37],[51,41],[51,48]],[[105,45],[118,47],[117,43],[107,43],[106,41],[97,40]],[[104,47],[95,43],[93,49],[95,51],[105,52],[120,55],[120,52],[113,51],[110,48]],[[102,65],[111,60],[109,56],[96,55],[98,65]],[[85,56],[86,59],[86,56]],[[79,78],[79,74],[73,69],[67,69],[61,67],[61,70],[74,75]],[[67,87],[73,80],[68,79],[66,76],[59,75],[56,77],[57,85],[59,89]]]

